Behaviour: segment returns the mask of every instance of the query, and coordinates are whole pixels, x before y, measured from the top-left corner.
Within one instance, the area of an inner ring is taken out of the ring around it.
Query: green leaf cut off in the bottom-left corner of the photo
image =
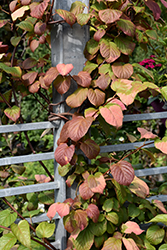
[[[10,250],[16,242],[17,239],[12,233],[5,234],[0,238],[0,250]]]

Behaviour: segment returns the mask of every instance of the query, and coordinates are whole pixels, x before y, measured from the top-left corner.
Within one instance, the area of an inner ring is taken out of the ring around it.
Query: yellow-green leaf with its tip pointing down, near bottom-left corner
[[[20,221],[18,225],[13,223],[10,228],[22,245],[31,247],[30,227],[26,220]]]

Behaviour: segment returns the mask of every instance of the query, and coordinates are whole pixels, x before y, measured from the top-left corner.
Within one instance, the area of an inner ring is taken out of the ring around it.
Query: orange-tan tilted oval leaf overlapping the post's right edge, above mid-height
[[[71,108],[76,108],[82,105],[88,95],[88,88],[78,88],[74,93],[67,97],[66,103]]]

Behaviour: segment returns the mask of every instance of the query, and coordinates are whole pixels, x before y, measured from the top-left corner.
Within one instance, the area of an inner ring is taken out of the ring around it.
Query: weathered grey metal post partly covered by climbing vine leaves
[[[71,4],[74,0],[55,0],[53,6],[53,13],[56,9],[70,10]],[[86,6],[89,5],[89,0],[81,0]],[[57,15],[54,15],[54,20],[61,19]],[[78,74],[83,69],[85,58],[83,50],[85,44],[89,38],[89,28],[81,27],[78,24],[74,24],[71,28],[70,25],[55,24],[51,30],[51,55],[52,55],[52,66],[56,66],[58,63],[68,64],[71,63],[74,66],[72,74]],[[69,95],[76,88],[75,84],[66,93]],[[65,99],[65,96],[60,96],[57,91],[53,88],[53,102],[58,103]],[[54,112],[63,112],[66,110],[66,105],[61,104],[56,106]],[[64,125],[64,121],[59,122],[59,128],[55,129],[54,132],[54,150],[57,147],[57,140],[60,136],[60,131]],[[64,178],[58,174],[58,164],[55,162],[55,180],[60,182],[60,189],[55,192],[55,201],[63,202],[66,197],[72,197],[73,192],[66,192],[66,183]],[[66,248],[66,230],[64,229],[62,219],[56,221],[56,235],[54,246],[58,249],[64,250]]]

